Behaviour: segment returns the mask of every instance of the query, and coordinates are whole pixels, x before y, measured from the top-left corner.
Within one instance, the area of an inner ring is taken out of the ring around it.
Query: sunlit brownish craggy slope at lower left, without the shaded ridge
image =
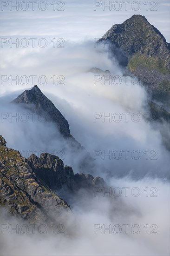
[[[0,135],[0,141],[4,141]],[[20,152],[0,144],[0,204],[29,222],[51,221],[70,206],[40,182]]]

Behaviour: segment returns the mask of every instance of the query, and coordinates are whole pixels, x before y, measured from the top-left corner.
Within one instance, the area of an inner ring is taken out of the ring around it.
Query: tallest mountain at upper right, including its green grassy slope
[[[115,53],[121,50],[129,70],[153,90],[154,97],[169,111],[170,43],[157,28],[144,16],[133,15],[113,25],[101,40],[110,40]]]

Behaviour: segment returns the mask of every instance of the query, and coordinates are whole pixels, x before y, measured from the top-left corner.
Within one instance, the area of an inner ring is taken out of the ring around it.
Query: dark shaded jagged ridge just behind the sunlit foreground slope
[[[94,186],[106,186],[103,178],[92,175],[75,174],[72,167],[65,166],[58,156],[42,153],[40,157],[30,155],[30,165],[37,177],[46,182],[52,190],[64,188],[72,192],[78,189],[93,189]]]

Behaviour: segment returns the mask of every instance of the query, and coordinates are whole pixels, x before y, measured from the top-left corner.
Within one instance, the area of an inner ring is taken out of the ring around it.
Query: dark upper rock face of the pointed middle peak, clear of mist
[[[44,113],[46,114],[47,121],[52,121],[57,124],[60,133],[64,137],[72,137],[70,135],[69,124],[65,120],[64,116],[59,112],[59,110],[54,106],[52,101],[50,101],[38,88],[37,85],[31,90],[25,90],[20,94],[14,103],[26,104],[26,107],[31,109],[33,113],[38,115]]]

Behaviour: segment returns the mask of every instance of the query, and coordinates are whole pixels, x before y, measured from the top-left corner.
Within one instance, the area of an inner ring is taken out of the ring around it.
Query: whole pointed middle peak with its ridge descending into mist
[[[34,85],[34,87],[30,90],[25,90],[16,99],[14,99],[12,103],[20,104],[21,107],[28,108],[32,111],[32,113],[36,113],[38,115],[46,113],[47,121],[50,121],[57,126],[61,137],[63,137],[65,140],[63,144],[65,152],[70,152],[71,150],[73,155],[79,157],[79,170],[81,170],[82,172],[86,172],[86,170],[88,169],[91,173],[95,171],[94,160],[92,159],[90,154],[70,134],[68,121],[61,114],[61,112],[54,106],[52,101],[50,101],[41,92],[37,85]],[[68,147],[65,147],[65,145],[67,145]]]

